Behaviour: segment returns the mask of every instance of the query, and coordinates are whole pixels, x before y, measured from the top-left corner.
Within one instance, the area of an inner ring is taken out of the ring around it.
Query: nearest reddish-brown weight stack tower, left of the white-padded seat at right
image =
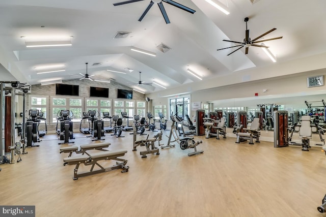
[[[288,112],[274,111],[274,147],[289,146]]]

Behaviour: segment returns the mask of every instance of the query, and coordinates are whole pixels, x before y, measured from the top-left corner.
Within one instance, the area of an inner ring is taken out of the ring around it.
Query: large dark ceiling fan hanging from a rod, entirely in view
[[[235,51],[241,49],[242,47],[246,48],[246,54],[248,54],[248,50],[249,50],[249,47],[250,46],[254,46],[254,47],[263,47],[263,48],[268,48],[267,46],[265,45],[258,45],[256,43],[261,43],[261,42],[265,42],[265,41],[271,41],[271,40],[276,40],[276,39],[282,39],[283,36],[281,37],[276,37],[276,38],[271,38],[271,39],[264,39],[264,40],[260,40],[260,41],[257,41],[258,39],[264,37],[265,35],[273,32],[274,30],[276,30],[276,28],[272,28],[270,29],[269,31],[267,31],[266,33],[258,36],[257,38],[251,40],[251,38],[249,38],[249,29],[247,28],[247,22],[248,22],[249,18],[246,17],[244,18],[244,22],[246,22],[246,38],[243,39],[243,42],[236,42],[236,41],[230,41],[230,40],[223,40],[223,41],[226,41],[226,42],[233,42],[233,43],[237,43],[237,44],[240,44],[240,45],[235,45],[235,46],[231,46],[231,47],[226,47],[226,48],[222,48],[222,49],[218,49],[218,50],[224,50],[224,49],[228,49],[228,48],[232,48],[232,47],[239,47],[238,49],[232,51],[231,53],[229,53],[228,55],[234,53]]]

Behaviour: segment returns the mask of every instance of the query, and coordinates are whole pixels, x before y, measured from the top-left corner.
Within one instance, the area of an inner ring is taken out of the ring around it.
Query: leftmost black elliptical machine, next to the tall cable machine
[[[26,139],[27,139],[27,147],[38,147],[40,145],[36,145],[36,142],[40,142],[39,138],[39,110],[29,110],[29,118],[26,121]]]

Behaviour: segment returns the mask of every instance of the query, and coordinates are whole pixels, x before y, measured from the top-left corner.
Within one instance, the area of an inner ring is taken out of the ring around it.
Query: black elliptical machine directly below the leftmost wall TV
[[[71,112],[71,115],[70,115]],[[72,111],[69,110],[61,110],[57,114],[58,121],[60,121],[60,132],[59,132],[59,139],[62,142],[59,142],[58,144],[64,144],[64,143],[74,143],[74,141],[70,141],[71,139],[74,139],[73,137],[73,125],[72,125]]]

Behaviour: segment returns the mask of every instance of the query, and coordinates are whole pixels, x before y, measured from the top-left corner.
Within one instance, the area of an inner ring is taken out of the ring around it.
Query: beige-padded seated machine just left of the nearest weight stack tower
[[[251,122],[250,128],[242,128],[244,132],[238,132],[236,136],[236,142],[240,143],[246,140],[249,140],[249,144],[254,144],[253,138],[256,138],[256,142],[259,141],[259,130],[260,124],[259,124],[259,118],[255,117],[253,121]]]

